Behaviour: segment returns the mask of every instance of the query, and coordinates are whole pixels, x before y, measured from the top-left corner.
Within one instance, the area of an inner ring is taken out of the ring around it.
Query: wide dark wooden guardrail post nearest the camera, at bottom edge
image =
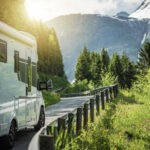
[[[54,136],[40,135],[40,150],[55,150]]]

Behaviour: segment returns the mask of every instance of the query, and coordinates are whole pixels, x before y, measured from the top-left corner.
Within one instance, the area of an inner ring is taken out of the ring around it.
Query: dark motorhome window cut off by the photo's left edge
[[[0,62],[7,63],[7,42],[0,39]]]

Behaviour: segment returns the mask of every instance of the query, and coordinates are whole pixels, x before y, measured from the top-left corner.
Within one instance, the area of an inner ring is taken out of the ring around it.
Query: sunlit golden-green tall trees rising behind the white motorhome
[[[55,30],[41,21],[31,20],[26,12],[25,0],[0,0],[0,20],[36,37],[39,72],[64,76],[63,58]]]

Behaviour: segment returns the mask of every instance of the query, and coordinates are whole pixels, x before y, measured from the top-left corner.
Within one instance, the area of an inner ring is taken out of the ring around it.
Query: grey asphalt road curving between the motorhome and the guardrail
[[[55,105],[46,108],[46,125],[57,120],[59,117],[73,111],[92,96],[87,97],[73,97],[62,98],[61,101]],[[40,132],[40,131],[39,131]],[[38,150],[38,135],[39,132],[35,132],[33,128],[27,131],[22,131],[17,134],[17,140],[15,147],[12,150]],[[0,150],[6,150],[0,145]]]

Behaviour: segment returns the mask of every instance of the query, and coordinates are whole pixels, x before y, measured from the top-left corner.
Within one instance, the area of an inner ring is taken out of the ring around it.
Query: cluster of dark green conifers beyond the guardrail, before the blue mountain
[[[137,73],[134,62],[124,53],[122,56],[114,53],[109,57],[106,49],[101,53],[90,52],[84,47],[77,61],[75,79],[76,82],[88,80],[94,87],[119,83],[122,88],[130,88],[136,79]]]

